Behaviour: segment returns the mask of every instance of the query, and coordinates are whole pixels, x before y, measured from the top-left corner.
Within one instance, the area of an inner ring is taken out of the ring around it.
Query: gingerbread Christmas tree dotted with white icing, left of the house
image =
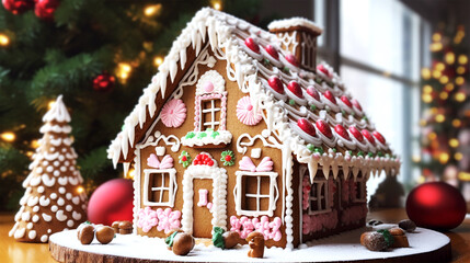
[[[77,228],[87,219],[83,179],[76,167],[77,153],[69,137],[70,115],[61,95],[43,122],[39,132],[44,136],[33,156],[31,173],[23,182],[26,191],[10,231],[10,237],[18,241],[47,242],[51,233]]]

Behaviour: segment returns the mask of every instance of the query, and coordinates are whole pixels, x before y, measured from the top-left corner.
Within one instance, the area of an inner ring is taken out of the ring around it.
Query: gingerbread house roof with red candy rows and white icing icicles
[[[321,33],[320,27],[305,19],[270,25],[272,30],[298,26]],[[298,162],[308,164],[311,180],[319,168],[326,176],[332,171],[334,178],[340,170],[344,176],[349,171],[354,176],[359,171],[363,174],[379,170],[387,174],[399,172],[399,159],[331,67],[321,64],[317,70],[307,70],[308,67],[302,67],[302,61],[298,62],[289,53],[282,37],[208,8],[198,11],[174,41],[159,72],[112,141],[108,158],[114,165],[133,160],[135,145],[144,138],[173,92],[167,88],[190,69],[188,53],[197,57],[207,43],[213,50],[222,50],[223,59],[230,65],[228,78],[250,94],[254,107],[262,112],[267,132],[282,141]]]

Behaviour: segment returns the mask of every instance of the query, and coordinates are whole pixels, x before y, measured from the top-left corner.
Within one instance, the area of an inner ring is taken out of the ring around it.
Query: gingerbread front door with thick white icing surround
[[[205,156],[207,161],[193,162],[184,171],[181,225],[183,231],[196,238],[210,238],[214,227],[227,229],[228,176],[209,153],[198,156]]]

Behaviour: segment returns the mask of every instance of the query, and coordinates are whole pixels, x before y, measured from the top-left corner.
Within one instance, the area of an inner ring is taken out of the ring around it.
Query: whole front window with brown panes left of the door
[[[173,207],[177,190],[176,170],[145,169],[144,174],[144,205]]]

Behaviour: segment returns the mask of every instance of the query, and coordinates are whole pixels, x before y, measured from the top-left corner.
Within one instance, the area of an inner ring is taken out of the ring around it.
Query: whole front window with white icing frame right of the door
[[[276,172],[237,171],[234,190],[236,210],[239,216],[273,216],[279,195]]]

